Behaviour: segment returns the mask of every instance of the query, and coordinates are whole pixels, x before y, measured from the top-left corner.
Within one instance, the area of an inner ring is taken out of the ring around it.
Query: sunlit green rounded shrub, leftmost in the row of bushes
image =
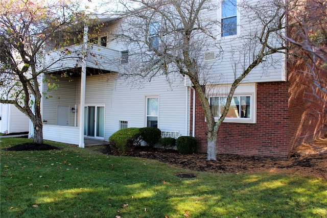
[[[131,127],[118,130],[109,137],[110,145],[117,148],[120,154],[140,143],[140,128]]]

